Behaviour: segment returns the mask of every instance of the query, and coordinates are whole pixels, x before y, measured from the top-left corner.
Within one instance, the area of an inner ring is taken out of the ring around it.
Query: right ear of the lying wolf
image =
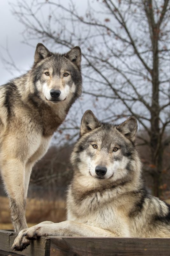
[[[137,132],[137,120],[134,116],[129,117],[125,122],[117,126],[117,129],[131,141],[135,141]]]

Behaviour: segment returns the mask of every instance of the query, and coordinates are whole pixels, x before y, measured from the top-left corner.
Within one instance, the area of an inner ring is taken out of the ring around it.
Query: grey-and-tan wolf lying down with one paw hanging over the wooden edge
[[[68,220],[20,231],[13,249],[37,236],[170,237],[169,208],[147,193],[135,147],[137,121],[112,125],[87,110],[71,155]]]

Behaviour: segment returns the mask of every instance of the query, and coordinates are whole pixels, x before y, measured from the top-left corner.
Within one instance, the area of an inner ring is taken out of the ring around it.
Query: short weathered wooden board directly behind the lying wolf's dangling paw
[[[11,250],[11,246],[15,240],[17,235],[10,236],[9,243],[9,252],[13,252]],[[48,256],[50,250],[50,239],[48,237],[40,237],[35,241],[30,241],[30,245],[22,252],[15,252],[19,255],[24,256]],[[9,254],[10,254],[9,253]]]

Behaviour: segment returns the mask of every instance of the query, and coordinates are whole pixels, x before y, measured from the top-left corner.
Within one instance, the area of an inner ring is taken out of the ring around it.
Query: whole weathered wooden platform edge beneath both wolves
[[[0,256],[170,256],[170,238],[41,237],[12,252],[16,234],[0,230]]]

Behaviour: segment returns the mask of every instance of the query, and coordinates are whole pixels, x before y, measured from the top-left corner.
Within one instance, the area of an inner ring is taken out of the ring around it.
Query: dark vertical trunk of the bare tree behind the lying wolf
[[[152,164],[156,166],[154,175],[154,196],[160,196],[162,171],[162,152],[159,129],[159,55],[158,55],[159,28],[152,20],[152,106],[151,106],[151,153]]]

